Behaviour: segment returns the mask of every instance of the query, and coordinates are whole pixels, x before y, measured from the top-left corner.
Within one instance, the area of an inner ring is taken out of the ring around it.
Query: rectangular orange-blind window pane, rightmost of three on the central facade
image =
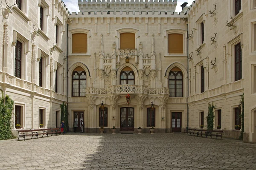
[[[168,53],[183,54],[183,34],[168,34]]]

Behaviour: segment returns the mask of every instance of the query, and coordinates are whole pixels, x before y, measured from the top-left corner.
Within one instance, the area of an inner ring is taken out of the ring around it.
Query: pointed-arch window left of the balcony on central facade
[[[85,96],[86,73],[80,66],[72,74],[72,96]]]

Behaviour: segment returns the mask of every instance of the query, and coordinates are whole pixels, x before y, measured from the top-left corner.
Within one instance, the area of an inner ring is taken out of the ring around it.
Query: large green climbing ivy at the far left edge
[[[5,104],[4,104],[5,102]],[[0,97],[0,140],[12,139],[13,100],[6,95]]]

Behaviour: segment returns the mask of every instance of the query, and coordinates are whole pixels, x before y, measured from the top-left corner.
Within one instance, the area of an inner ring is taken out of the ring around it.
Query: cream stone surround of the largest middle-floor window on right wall
[[[236,82],[235,81],[235,45],[237,45],[238,43],[241,43],[241,54],[242,54],[242,77],[241,79],[244,79],[244,71],[243,71],[243,63],[244,63],[244,55],[243,55],[243,34],[238,35],[237,37],[233,38],[233,40],[231,40],[230,42],[227,43],[227,51],[230,58],[230,63],[231,63],[231,72],[230,72],[230,81],[231,82]],[[228,79],[228,78],[227,78]],[[241,81],[241,79],[237,80],[237,81]]]

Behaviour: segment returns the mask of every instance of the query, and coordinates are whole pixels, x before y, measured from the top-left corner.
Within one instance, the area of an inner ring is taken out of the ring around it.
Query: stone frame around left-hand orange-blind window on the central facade
[[[72,35],[76,33],[82,33],[87,34],[87,52],[86,53],[73,53],[72,52]],[[68,43],[69,43],[69,49],[68,49],[68,55],[71,56],[83,56],[83,57],[90,57],[90,37],[91,37],[91,31],[84,28],[75,28],[68,31]]]

